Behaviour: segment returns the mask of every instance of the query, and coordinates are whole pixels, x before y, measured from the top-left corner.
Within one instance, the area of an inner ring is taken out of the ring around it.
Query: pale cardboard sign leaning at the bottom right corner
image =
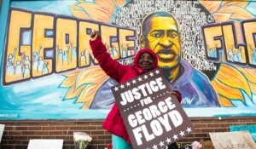
[[[256,149],[252,136],[247,131],[209,133],[212,144],[218,149]]]

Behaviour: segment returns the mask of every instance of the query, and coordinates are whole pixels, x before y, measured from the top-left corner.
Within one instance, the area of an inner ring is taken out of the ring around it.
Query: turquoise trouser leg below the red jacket
[[[116,135],[112,135],[112,146],[113,149],[131,149],[131,145],[129,143]]]

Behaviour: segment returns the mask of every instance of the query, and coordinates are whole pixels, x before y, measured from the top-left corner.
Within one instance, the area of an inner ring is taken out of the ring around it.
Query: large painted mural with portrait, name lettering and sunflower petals
[[[125,65],[139,49],[154,50],[189,117],[255,115],[255,8],[253,1],[11,1],[0,119],[106,117],[116,82],[91,53],[93,30]]]

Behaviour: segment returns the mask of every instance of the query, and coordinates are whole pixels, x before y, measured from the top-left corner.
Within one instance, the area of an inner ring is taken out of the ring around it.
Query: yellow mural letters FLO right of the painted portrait
[[[203,26],[205,47],[209,60],[220,60],[218,50],[224,50],[225,60],[238,65],[256,66],[256,48],[254,44],[256,21],[241,23],[242,37],[245,43],[237,43],[236,29],[233,22]]]

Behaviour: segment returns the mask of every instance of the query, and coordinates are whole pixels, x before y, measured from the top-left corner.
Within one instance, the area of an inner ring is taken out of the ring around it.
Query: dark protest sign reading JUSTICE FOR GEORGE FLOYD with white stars
[[[169,83],[156,69],[112,87],[132,148],[163,148],[189,135],[194,127]]]

